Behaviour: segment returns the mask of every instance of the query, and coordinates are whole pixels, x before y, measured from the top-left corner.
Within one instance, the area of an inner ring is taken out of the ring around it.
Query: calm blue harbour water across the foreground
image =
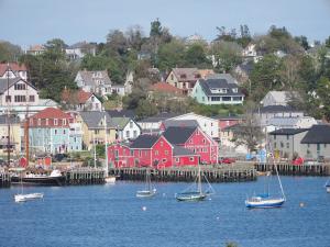
[[[264,178],[213,184],[217,194],[197,203],[174,199],[187,183],[157,183],[158,195],[146,200],[135,198],[143,188],[138,182],[26,188],[26,192],[44,192],[45,198],[22,204],[13,202],[16,188],[2,189],[0,246],[221,247],[235,242],[240,247],[329,247],[326,178],[284,177],[282,181],[287,202],[271,210],[244,207],[246,193],[263,192]],[[272,178],[271,189],[277,188]]]

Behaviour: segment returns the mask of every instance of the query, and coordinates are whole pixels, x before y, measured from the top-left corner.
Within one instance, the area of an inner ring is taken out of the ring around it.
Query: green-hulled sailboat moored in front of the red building
[[[198,173],[197,173],[194,184],[188,187],[185,191],[177,193],[175,195],[176,200],[177,201],[204,201],[207,197],[209,197],[210,194],[212,194],[215,192],[213,188],[211,187],[211,184],[209,183],[209,181],[207,180],[206,177],[205,177],[205,179],[209,186],[209,189],[206,191],[202,191],[201,172],[200,172],[200,166],[198,165]]]

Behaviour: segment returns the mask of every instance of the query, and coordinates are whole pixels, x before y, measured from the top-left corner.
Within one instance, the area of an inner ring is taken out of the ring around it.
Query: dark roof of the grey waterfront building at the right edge
[[[330,125],[312,125],[301,144],[330,144]]]

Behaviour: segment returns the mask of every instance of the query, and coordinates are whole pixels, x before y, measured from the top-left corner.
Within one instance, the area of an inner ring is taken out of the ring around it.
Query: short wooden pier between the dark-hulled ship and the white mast
[[[87,186],[105,183],[102,168],[76,168],[65,172],[66,186]]]

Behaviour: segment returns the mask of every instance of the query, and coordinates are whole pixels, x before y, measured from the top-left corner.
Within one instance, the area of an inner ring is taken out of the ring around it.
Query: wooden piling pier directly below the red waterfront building
[[[120,180],[145,180],[146,169],[150,168],[110,168],[110,175],[118,176]],[[173,167],[152,169],[153,181],[194,181],[197,177],[197,167]],[[201,173],[209,182],[245,182],[256,180],[256,170],[246,165],[222,165],[218,167],[202,166]]]

